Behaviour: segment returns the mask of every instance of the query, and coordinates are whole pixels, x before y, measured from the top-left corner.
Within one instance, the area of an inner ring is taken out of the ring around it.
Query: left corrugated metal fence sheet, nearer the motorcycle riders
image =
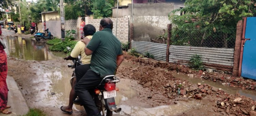
[[[135,48],[140,54],[150,53],[154,55],[154,59],[166,61],[167,44],[132,40],[131,47]]]

